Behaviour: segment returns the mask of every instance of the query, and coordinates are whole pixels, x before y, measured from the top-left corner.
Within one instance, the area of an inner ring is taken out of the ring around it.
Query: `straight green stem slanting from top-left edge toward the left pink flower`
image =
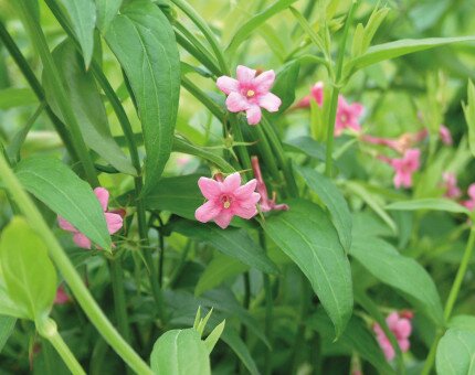
[[[54,63],[53,56],[51,55],[50,49],[46,43],[46,39],[44,33],[36,22],[36,20],[31,15],[29,6],[27,4],[27,0],[20,0],[17,2],[18,8],[21,12],[23,23],[28,33],[30,34],[30,39],[32,41],[33,46],[36,49],[38,54],[43,63],[43,67],[49,78],[51,79],[52,87],[54,88],[54,93],[57,100],[57,107],[64,118],[64,121],[70,126],[70,131],[74,144],[74,149],[76,150],[77,156],[82,162],[82,167],[84,169],[85,175],[93,186],[97,186],[98,180],[96,175],[96,171],[93,164],[93,161],[87,151],[87,147],[84,142],[83,135],[81,132],[80,125],[77,124],[76,117],[73,113],[73,109],[67,99],[66,93],[64,90],[63,84],[57,75],[57,67]]]

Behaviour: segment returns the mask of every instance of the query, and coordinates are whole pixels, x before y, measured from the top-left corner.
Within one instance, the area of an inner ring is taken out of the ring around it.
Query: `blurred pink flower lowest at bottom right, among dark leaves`
[[[397,312],[391,312],[386,319],[386,323],[388,324],[390,331],[394,334],[399,347],[401,347],[402,352],[409,351],[409,347],[411,345],[409,342],[409,336],[412,332],[411,317],[411,314],[398,314]],[[373,325],[373,331],[376,333],[379,346],[381,346],[384,353],[386,358],[388,361],[391,361],[395,355],[391,342],[389,341],[388,336],[379,324]]]

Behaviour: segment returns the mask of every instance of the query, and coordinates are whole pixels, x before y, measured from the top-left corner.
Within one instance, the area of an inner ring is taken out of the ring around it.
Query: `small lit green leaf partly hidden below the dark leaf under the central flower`
[[[220,286],[224,280],[235,277],[247,269],[249,266],[241,261],[217,254],[208,264],[204,272],[200,276],[197,287],[194,288],[194,296],[201,296],[207,290]]]

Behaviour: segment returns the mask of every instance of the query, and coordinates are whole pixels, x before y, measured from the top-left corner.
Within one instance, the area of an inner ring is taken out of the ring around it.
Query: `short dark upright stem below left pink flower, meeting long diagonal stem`
[[[115,309],[118,331],[127,342],[130,342],[130,329],[128,325],[127,302],[126,302],[126,296],[124,290],[124,269],[122,267],[122,259],[119,256],[116,256],[114,259],[109,260],[109,271],[110,271],[110,281],[113,286],[114,309]]]

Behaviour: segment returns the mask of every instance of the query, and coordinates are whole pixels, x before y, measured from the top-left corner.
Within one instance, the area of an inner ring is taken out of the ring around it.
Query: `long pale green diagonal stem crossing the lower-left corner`
[[[12,170],[2,154],[0,154],[0,176],[4,186],[15,200],[18,206],[29,222],[30,226],[43,238],[49,253],[56,267],[70,286],[80,306],[95,325],[101,335],[117,352],[117,354],[138,374],[152,374],[148,365],[137,355],[127,342],[118,334],[114,325],[107,320],[83,280],[74,268],[67,255],[54,237],[43,216],[38,211],[31,197],[25,193],[22,185],[13,174]]]

